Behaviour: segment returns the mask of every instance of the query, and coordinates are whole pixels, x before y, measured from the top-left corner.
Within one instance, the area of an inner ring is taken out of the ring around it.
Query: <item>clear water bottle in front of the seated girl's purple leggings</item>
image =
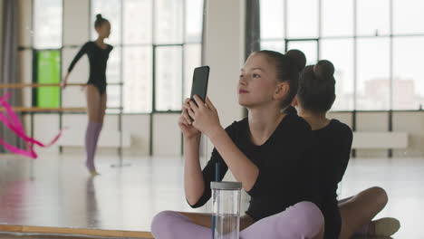
[[[240,195],[238,182],[211,182],[212,239],[239,239]]]

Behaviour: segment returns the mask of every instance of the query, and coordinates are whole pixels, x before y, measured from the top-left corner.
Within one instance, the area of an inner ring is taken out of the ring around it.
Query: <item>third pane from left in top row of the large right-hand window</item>
[[[353,35],[353,1],[322,0],[323,36]]]

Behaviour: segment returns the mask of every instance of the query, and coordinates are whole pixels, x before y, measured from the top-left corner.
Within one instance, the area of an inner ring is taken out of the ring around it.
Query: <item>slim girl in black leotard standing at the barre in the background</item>
[[[85,166],[92,176],[98,175],[94,165],[94,155],[106,111],[106,66],[109,54],[113,49],[110,44],[104,43],[104,39],[111,34],[111,23],[101,14],[97,14],[94,27],[98,33],[97,40],[85,43],[82,46],[80,52],[73,58],[61,84],[64,89],[76,62],[82,58],[82,55],[87,54],[90,62],[90,76],[86,88],[89,123],[85,133],[85,151],[87,154]]]

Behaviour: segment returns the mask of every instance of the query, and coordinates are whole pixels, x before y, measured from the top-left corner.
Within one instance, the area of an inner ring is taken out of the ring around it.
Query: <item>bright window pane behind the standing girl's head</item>
[[[120,0],[92,0],[92,40],[97,39],[94,29],[96,14],[101,14],[111,23],[111,35],[106,42],[120,44]]]

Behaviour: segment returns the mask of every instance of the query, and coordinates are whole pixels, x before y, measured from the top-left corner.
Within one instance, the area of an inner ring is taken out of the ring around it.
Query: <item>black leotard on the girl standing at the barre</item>
[[[78,62],[82,55],[87,53],[90,62],[90,77],[87,84],[94,85],[101,94],[106,92],[106,66],[109,59],[109,53],[113,46],[106,44],[105,49],[95,42],[85,43],[80,52],[78,52],[73,58],[71,65],[68,68],[68,72],[71,72],[76,62]]]

